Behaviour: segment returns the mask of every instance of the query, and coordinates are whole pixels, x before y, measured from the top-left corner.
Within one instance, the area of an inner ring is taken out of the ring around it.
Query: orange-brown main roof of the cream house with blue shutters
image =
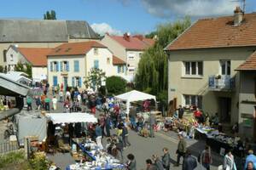
[[[51,50],[48,56],[56,55],[81,55],[86,54],[91,48],[107,48],[99,42],[67,42]]]

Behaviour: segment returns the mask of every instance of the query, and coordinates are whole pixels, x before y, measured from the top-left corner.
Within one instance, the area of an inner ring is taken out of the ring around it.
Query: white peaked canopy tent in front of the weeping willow
[[[126,113],[127,114],[129,114],[130,103],[132,101],[140,101],[140,100],[146,100],[146,99],[154,99],[154,101],[156,101],[154,95],[145,94],[145,93],[139,92],[137,90],[132,90],[131,92],[127,92],[125,94],[120,94],[118,96],[115,96],[115,98],[126,102]]]

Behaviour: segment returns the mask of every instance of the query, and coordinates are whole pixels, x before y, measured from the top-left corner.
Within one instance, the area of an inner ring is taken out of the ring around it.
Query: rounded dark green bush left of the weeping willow
[[[106,87],[108,89],[108,94],[122,94],[125,92],[126,81],[122,77],[108,77],[106,79]]]

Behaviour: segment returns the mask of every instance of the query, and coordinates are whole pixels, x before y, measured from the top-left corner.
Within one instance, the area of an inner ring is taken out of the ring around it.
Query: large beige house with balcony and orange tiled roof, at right
[[[218,113],[220,122],[228,127],[238,122],[243,133],[247,128],[240,105],[247,94],[241,93],[241,81],[246,77],[235,70],[256,49],[256,14],[243,15],[240,8],[234,12],[196,21],[166,47],[168,100]]]

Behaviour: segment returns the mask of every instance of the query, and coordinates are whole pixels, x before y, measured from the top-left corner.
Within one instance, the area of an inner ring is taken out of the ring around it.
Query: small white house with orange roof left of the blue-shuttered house
[[[47,54],[52,48],[17,48],[10,46],[6,52],[7,71],[15,71],[18,63],[32,65],[32,80],[41,82],[47,79]]]

